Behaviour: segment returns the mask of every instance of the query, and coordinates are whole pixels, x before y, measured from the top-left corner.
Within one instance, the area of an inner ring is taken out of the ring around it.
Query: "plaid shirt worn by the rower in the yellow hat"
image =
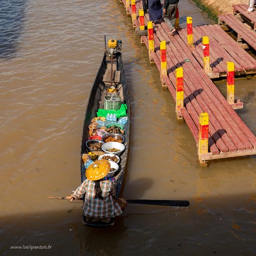
[[[112,218],[122,214],[122,209],[114,200],[116,190],[110,180],[100,181],[103,199],[95,198],[95,181],[86,179],[73,193],[78,198],[85,194],[82,209],[86,217],[95,219]]]

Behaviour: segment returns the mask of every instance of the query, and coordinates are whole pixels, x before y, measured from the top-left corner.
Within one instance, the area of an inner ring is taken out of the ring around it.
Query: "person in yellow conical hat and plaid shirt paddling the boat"
[[[110,170],[107,160],[95,161],[85,172],[86,180],[67,198],[70,201],[85,194],[84,211],[87,222],[109,222],[123,213],[127,204],[123,198],[116,198],[116,189],[109,179],[104,179]]]

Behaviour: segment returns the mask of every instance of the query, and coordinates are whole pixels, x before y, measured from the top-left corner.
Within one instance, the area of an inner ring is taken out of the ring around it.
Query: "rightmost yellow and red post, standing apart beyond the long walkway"
[[[235,103],[235,65],[227,62],[227,101],[230,105]]]

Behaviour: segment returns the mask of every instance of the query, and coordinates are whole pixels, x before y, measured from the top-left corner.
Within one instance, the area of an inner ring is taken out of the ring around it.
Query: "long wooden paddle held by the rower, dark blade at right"
[[[49,196],[49,199],[61,199],[70,200],[67,197],[54,197]],[[83,200],[83,198],[76,198],[74,200]],[[147,199],[129,199],[126,200],[129,204],[149,204],[149,205],[164,205],[164,206],[178,206],[178,207],[188,207],[189,201],[183,200],[147,200]]]

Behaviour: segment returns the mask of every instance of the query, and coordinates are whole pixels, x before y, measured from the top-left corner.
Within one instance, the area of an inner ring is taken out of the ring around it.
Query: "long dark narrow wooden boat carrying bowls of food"
[[[93,117],[97,117],[97,111],[99,108],[103,109],[103,101],[105,96],[107,95],[107,85],[109,85],[109,71],[111,67],[111,60],[107,52],[105,52],[101,66],[99,68],[98,74],[95,78],[94,84],[92,86],[92,90],[90,93],[89,101],[87,104],[85,118],[84,118],[84,125],[83,125],[83,134],[82,134],[82,143],[81,143],[81,156],[84,153],[87,153],[85,142],[89,139],[89,125],[91,124],[91,120]],[[119,156],[120,162],[118,163],[119,169],[115,175],[115,182],[114,186],[117,191],[117,197],[120,193],[122,182],[124,179],[124,173],[126,169],[126,162],[128,157],[128,150],[129,150],[129,137],[130,137],[130,104],[129,104],[129,94],[127,89],[126,77],[123,68],[122,62],[122,54],[121,52],[117,52],[115,54],[115,58],[113,61],[113,70],[115,71],[113,83],[118,88],[118,93],[121,96],[121,103],[127,105],[126,115],[128,117],[127,123],[124,125],[124,136],[125,136],[125,150],[123,154]],[[116,78],[115,78],[116,76]],[[112,78],[112,77],[111,77]],[[105,81],[105,82],[103,82]],[[81,157],[81,182],[86,179],[85,177],[85,166],[84,162]],[[90,227],[109,227],[114,225],[114,218],[111,218],[110,222],[102,222],[95,221],[95,222],[88,222],[83,214],[83,223],[86,226]]]

